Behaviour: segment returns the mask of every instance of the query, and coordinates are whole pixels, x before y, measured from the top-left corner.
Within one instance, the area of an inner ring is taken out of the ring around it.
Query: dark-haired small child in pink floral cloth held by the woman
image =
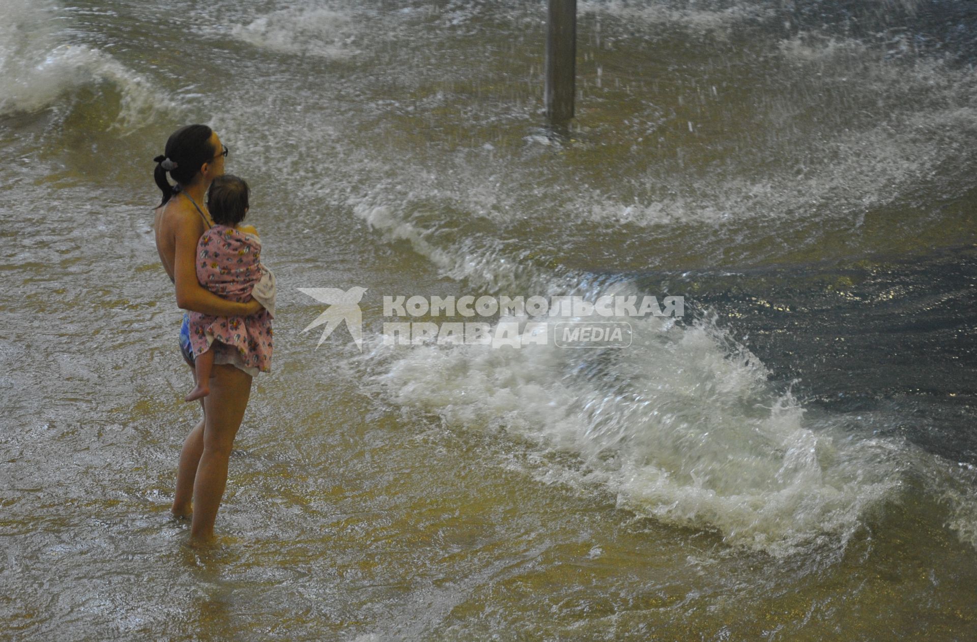
[[[257,299],[265,309],[250,317],[190,314],[190,340],[196,387],[191,402],[210,394],[213,364],[234,364],[251,376],[272,366],[272,318],[275,276],[261,264],[261,240],[250,225],[241,225],[248,211],[248,187],[226,174],[214,179],[207,209],[214,225],[200,236],[196,278],[211,292],[232,301]]]

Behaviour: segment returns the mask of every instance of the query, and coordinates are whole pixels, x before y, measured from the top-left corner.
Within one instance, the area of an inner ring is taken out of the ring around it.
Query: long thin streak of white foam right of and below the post
[[[762,218],[784,221],[815,214],[822,220],[861,217],[866,208],[896,202],[933,178],[954,145],[940,134],[947,131],[977,132],[977,109],[927,110],[834,135],[819,144],[821,149],[808,163],[798,163],[803,165],[801,175],[782,171],[755,179],[677,179],[670,186],[675,195],[637,203],[593,191],[580,194],[578,211],[595,223],[645,228]],[[708,183],[713,183],[712,189],[705,189]]]

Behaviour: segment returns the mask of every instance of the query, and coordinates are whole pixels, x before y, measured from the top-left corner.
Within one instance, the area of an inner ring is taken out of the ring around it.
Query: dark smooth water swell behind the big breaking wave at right
[[[700,315],[733,329],[805,406],[880,412],[873,433],[977,463],[977,252],[684,274]]]

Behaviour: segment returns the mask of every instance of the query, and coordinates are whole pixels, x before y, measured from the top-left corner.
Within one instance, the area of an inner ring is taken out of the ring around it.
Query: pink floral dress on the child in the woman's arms
[[[215,225],[200,236],[196,250],[197,280],[229,301],[250,301],[252,288],[268,274],[260,260],[261,241],[255,235]],[[252,375],[272,369],[272,316],[268,310],[250,317],[191,312],[190,341],[194,358],[213,348],[215,364],[234,364]]]

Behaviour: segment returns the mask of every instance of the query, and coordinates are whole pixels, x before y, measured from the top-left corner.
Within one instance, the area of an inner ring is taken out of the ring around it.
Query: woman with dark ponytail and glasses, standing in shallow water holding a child
[[[156,156],[153,178],[163,193],[155,210],[156,249],[166,274],[177,291],[177,306],[217,317],[246,317],[261,311],[256,300],[228,301],[197,282],[196,243],[213,225],[204,205],[211,181],[224,174],[228,149],[217,133],[206,125],[188,125],[170,136],[166,153]],[[167,172],[176,181],[171,186]],[[184,360],[193,366],[192,353],[183,341],[187,323],[181,328]],[[189,335],[188,335],[189,343]],[[203,419],[191,430],[180,453],[173,515],[192,516],[191,541],[202,543],[214,537],[214,520],[228,480],[228,460],[234,436],[244,417],[251,394],[251,375],[233,360],[215,360],[210,375],[210,395],[201,399]],[[194,376],[195,383],[195,376]]]

